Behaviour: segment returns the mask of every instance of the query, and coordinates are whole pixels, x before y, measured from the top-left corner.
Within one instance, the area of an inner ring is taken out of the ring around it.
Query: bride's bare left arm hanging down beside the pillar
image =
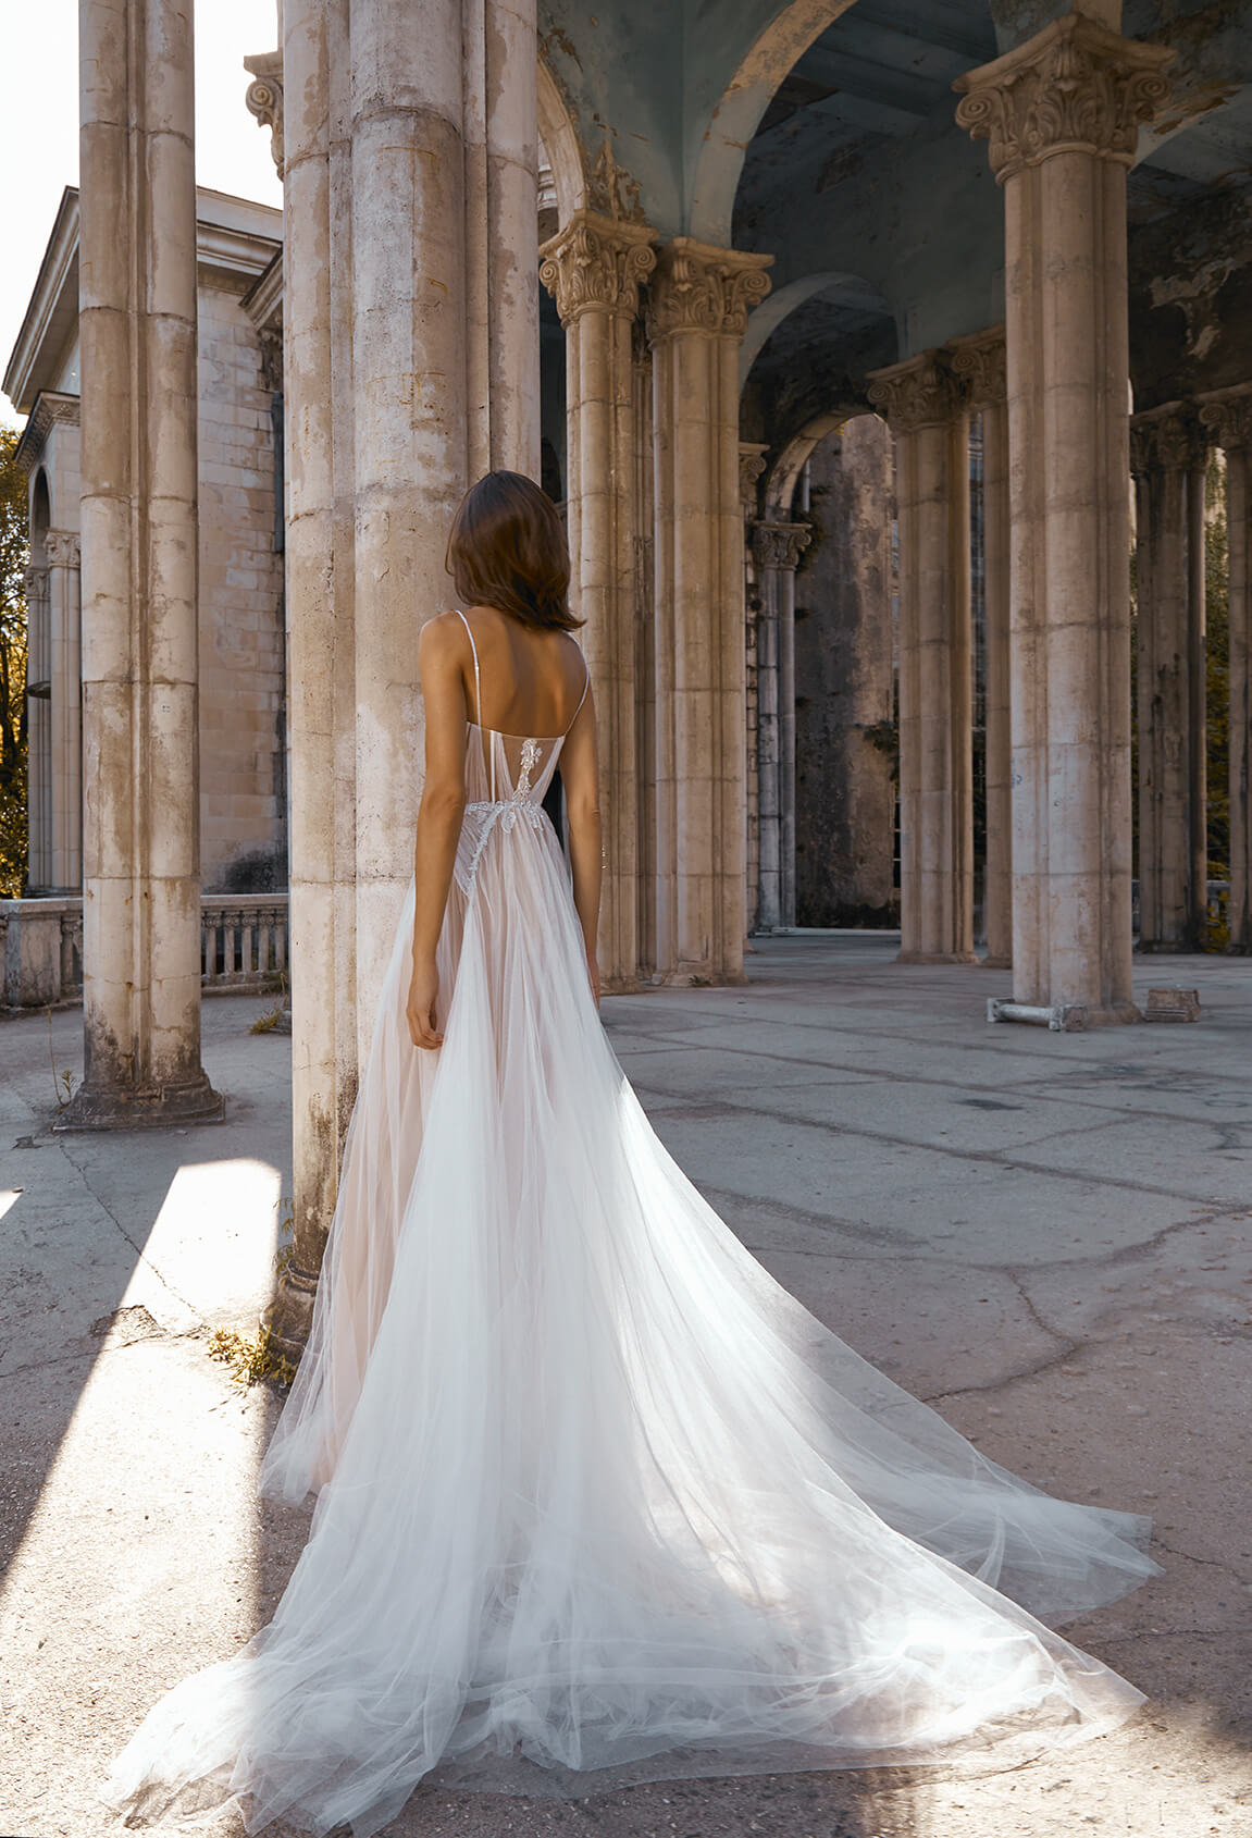
[[[414,845],[414,974],[406,1013],[414,1046],[436,1048],[443,1044],[436,1026],[436,950],[465,814],[465,673],[460,627],[450,616],[423,625],[417,665],[427,709],[427,781]]]

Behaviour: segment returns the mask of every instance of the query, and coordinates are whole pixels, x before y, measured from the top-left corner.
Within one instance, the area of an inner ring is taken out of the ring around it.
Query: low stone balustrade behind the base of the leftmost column
[[[200,899],[200,987],[211,994],[272,989],[287,976],[285,893]],[[83,901],[0,901],[0,1007],[42,1009],[83,994]]]

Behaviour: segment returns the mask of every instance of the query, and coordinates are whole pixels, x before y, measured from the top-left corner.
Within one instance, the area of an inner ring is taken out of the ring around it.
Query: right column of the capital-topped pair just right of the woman
[[[656,969],[741,981],[745,656],[737,351],[772,257],[675,237],[649,290],[656,489]]]

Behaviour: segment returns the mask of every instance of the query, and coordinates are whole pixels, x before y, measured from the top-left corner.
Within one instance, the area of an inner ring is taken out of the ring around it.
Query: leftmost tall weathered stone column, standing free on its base
[[[61,1129],[221,1116],[200,1066],[191,9],[81,0],[83,1022]]]

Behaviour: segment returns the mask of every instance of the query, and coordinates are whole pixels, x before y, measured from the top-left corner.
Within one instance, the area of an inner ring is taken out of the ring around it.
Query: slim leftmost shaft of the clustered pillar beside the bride
[[[248,59],[248,68],[265,66],[283,175],[294,1242],[270,1334],[289,1358],[298,1358],[309,1331],[357,1095],[346,48],[347,0],[285,0],[281,59]],[[250,90],[254,112],[257,85]]]

